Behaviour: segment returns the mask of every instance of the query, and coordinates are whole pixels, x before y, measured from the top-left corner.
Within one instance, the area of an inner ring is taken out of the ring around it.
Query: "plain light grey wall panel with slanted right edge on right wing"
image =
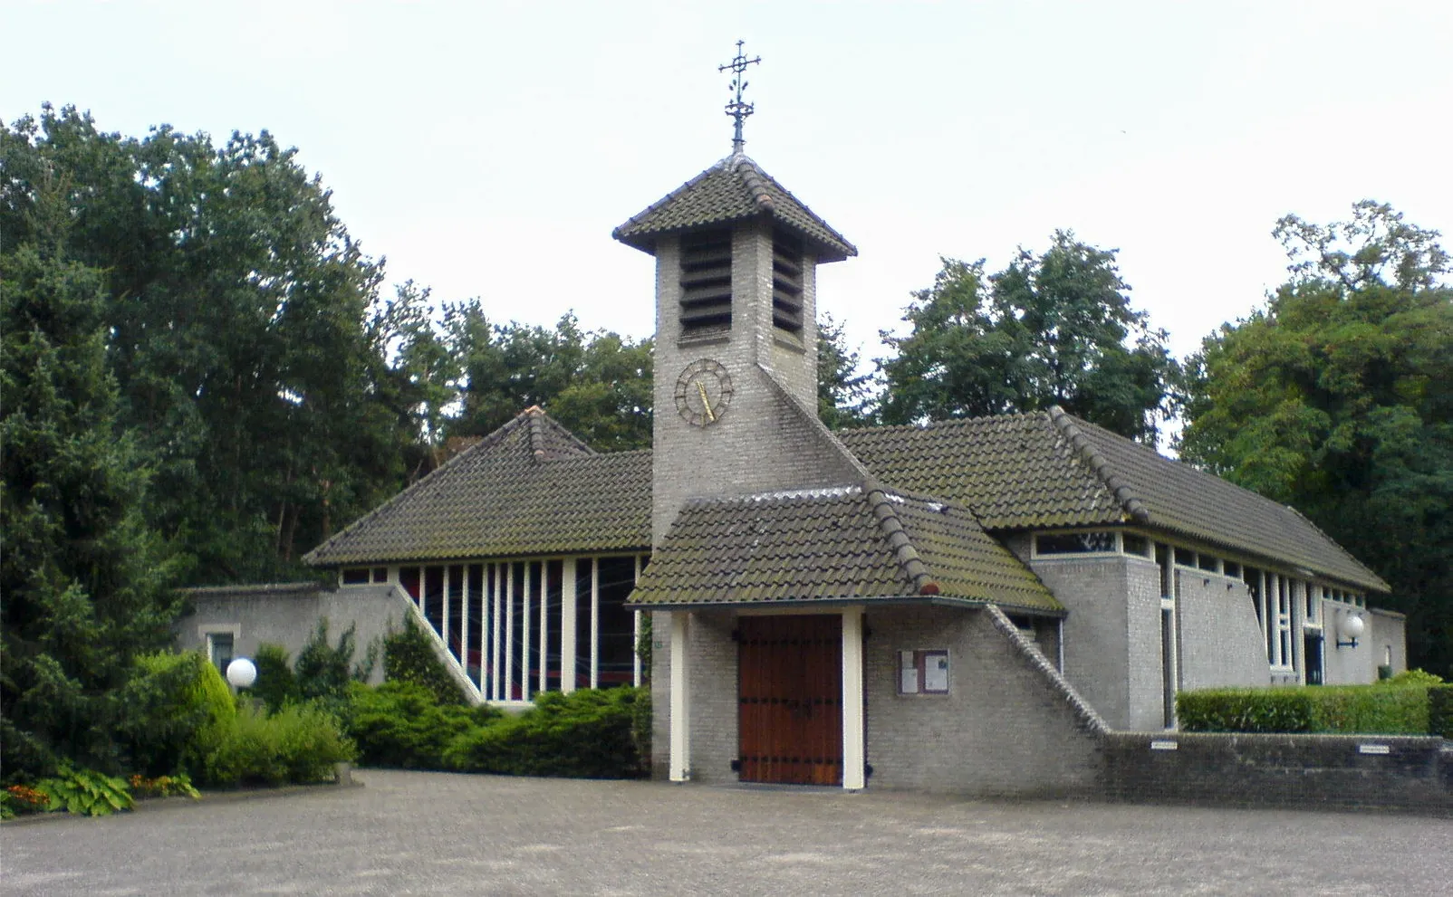
[[[1267,685],[1266,640],[1247,583],[1205,570],[1175,576],[1181,688]]]

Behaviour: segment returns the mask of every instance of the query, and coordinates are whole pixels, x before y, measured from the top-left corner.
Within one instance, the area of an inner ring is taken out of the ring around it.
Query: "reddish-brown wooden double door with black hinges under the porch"
[[[738,618],[744,782],[843,784],[843,618]]]

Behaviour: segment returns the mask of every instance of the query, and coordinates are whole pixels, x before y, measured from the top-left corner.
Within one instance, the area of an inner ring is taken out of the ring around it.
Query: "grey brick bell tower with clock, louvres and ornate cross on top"
[[[817,266],[857,250],[742,151],[747,60],[732,152],[615,229],[655,257],[652,543],[692,498],[821,485],[793,453],[782,402],[817,408]]]

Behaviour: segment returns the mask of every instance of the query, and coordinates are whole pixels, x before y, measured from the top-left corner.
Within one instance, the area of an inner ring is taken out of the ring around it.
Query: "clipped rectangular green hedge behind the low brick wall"
[[[1213,688],[1175,695],[1184,732],[1428,734],[1425,685]]]

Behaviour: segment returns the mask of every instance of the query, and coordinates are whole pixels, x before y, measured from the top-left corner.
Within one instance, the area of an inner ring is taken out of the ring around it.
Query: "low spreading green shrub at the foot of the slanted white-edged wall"
[[[417,682],[384,682],[376,688],[355,684],[344,718],[366,766],[448,769],[443,752],[449,742],[501,716],[482,705],[439,704],[434,692]]]

